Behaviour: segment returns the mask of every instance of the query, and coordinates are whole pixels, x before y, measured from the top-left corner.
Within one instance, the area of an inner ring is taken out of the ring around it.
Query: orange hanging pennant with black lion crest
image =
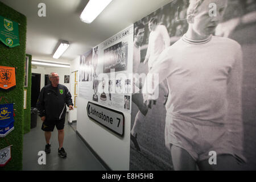
[[[0,89],[8,90],[16,86],[15,68],[0,66]]]

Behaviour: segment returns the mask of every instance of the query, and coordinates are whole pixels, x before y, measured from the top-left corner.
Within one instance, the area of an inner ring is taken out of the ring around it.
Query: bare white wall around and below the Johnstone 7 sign
[[[87,100],[79,97],[77,102],[77,131],[112,170],[129,170],[131,115],[123,113],[125,131],[121,138],[88,117]]]

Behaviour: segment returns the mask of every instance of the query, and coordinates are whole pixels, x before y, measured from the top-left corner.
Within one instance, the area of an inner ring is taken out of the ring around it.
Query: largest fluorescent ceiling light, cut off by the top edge
[[[90,0],[80,15],[80,19],[85,23],[92,21],[105,9],[112,0]]]

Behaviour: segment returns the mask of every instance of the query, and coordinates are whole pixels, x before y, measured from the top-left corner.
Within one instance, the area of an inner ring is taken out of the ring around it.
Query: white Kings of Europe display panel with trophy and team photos
[[[130,26],[81,56],[79,97],[130,113],[132,59]]]

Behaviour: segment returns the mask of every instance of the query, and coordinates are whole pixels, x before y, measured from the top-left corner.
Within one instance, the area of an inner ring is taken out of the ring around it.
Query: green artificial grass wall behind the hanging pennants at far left
[[[13,48],[5,46],[0,42],[0,65],[16,68],[16,87],[9,90],[0,90],[0,96],[7,97],[9,103],[14,102],[15,117],[14,130],[5,138],[12,144],[11,160],[0,170],[22,170],[22,146],[23,146],[23,96],[24,96],[24,64],[26,56],[26,31],[27,18],[9,6],[0,2],[0,15],[19,23],[19,44]],[[1,22],[2,23],[2,22]],[[2,103],[2,101],[1,101]],[[9,146],[4,138],[0,138],[0,149]]]

